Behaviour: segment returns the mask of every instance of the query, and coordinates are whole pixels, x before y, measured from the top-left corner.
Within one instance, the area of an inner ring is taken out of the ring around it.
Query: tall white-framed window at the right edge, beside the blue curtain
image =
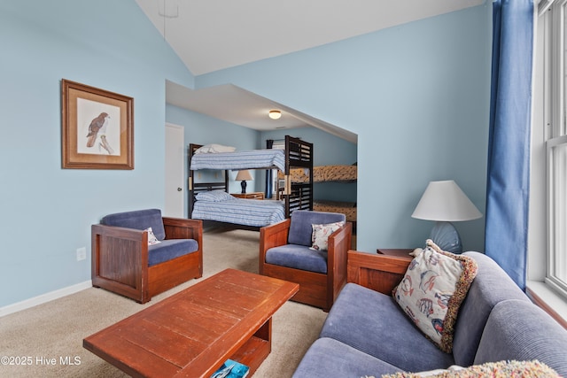
[[[545,68],[548,169],[548,263],[546,283],[567,297],[567,0],[555,1],[545,15],[548,47]]]

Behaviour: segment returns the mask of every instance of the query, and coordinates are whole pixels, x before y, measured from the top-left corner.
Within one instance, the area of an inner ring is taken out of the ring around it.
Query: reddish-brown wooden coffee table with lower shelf
[[[253,374],[271,351],[272,315],[298,290],[297,283],[227,269],[82,345],[132,376],[209,377],[226,359]]]

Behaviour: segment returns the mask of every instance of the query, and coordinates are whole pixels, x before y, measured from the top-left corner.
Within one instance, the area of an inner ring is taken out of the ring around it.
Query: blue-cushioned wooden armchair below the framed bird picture
[[[92,225],[91,243],[93,286],[139,303],[203,275],[201,220],[119,212]]]

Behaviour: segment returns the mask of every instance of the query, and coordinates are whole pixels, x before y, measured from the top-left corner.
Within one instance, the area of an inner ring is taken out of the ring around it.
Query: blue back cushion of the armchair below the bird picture
[[[106,226],[121,228],[134,228],[144,230],[151,228],[158,240],[166,238],[166,230],[163,227],[161,211],[159,209],[136,210],[134,212],[116,212],[106,215],[100,223]]]

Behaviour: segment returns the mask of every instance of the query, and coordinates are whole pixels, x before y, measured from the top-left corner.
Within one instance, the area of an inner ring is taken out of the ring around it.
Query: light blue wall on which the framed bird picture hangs
[[[3,1],[0,46],[2,307],[89,281],[106,213],[163,208],[165,82],[194,78],[134,0]],[[61,79],[134,97],[134,170],[61,168]]]

